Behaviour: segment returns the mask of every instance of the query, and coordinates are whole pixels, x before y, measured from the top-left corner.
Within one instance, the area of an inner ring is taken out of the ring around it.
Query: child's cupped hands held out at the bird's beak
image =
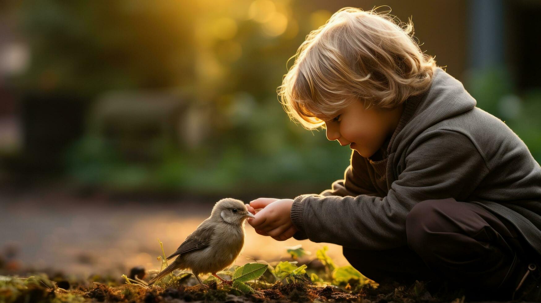
[[[292,204],[292,199],[256,199],[248,208],[250,212],[254,210],[255,219],[248,219],[248,223],[260,235],[268,235],[278,241],[287,240],[298,230],[290,218]]]

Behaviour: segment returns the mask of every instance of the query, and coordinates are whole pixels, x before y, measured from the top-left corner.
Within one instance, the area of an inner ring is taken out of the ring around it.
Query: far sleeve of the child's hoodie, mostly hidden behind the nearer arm
[[[361,159],[362,156],[357,151],[352,150],[349,166],[344,173],[344,179],[334,181],[331,189],[324,190],[322,196],[357,196],[368,195],[377,196],[378,192],[370,180],[368,175],[366,161]],[[361,168],[361,169],[353,169]]]

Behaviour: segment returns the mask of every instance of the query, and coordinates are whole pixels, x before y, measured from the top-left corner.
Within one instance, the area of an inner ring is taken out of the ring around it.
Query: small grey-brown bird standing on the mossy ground
[[[255,218],[240,200],[225,198],[216,202],[210,216],[193,233],[186,237],[179,248],[166,259],[178,256],[166,269],[151,279],[148,286],[162,279],[175,269],[192,269],[203,285],[199,274],[212,273],[226,282],[216,272],[233,264],[244,246],[245,219]]]

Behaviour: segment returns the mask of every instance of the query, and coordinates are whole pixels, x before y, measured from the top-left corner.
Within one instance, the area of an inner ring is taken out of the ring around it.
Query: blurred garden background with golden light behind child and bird
[[[173,251],[222,197],[330,188],[351,150],[289,121],[276,88],[309,31],[380,5],[541,160],[536,0],[2,1],[2,271],[156,268],[156,238]],[[258,259],[321,247],[246,229]]]

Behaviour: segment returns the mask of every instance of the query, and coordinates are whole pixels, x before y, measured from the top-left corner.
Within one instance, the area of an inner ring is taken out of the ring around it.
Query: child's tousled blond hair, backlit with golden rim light
[[[306,36],[278,88],[291,120],[325,127],[352,100],[393,109],[430,87],[436,61],[414,41],[413,24],[389,14],[342,8]],[[290,58],[291,59],[291,58]]]

